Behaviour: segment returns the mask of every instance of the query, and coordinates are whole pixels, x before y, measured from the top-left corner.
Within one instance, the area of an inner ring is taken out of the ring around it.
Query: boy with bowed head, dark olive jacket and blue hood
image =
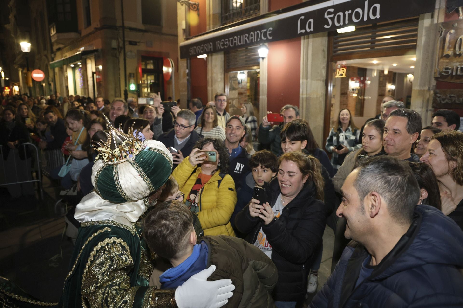
[[[213,264],[216,271],[210,280],[229,278],[236,287],[224,307],[275,307],[270,293],[278,272],[273,262],[233,236],[204,236],[197,242],[193,214],[181,202],[166,201],[150,211],[144,236],[151,251],[173,266],[159,278],[162,289],[175,288]]]

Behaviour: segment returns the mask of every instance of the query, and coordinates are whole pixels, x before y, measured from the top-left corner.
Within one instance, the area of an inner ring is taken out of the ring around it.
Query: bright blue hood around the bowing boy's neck
[[[161,289],[176,288],[191,276],[206,269],[209,251],[206,242],[194,245],[193,253],[180,265],[171,267],[160,277]]]

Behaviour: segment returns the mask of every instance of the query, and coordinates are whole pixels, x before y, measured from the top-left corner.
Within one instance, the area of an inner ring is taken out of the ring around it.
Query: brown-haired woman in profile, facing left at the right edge
[[[442,212],[463,229],[463,133],[449,130],[434,134],[419,160],[436,175]]]

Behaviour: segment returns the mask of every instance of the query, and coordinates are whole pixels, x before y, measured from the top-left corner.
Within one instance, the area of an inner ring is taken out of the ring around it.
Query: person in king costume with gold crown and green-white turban
[[[172,172],[172,155],[161,142],[136,136],[109,124],[107,141],[96,146],[95,189],[75,209],[81,227],[59,303],[41,302],[0,278],[0,307],[216,308],[228,302],[230,279],[206,281],[215,266],[177,289],[148,286],[154,261],[142,221]]]

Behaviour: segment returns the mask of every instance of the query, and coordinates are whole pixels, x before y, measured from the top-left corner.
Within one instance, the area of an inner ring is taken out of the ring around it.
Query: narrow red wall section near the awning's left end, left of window
[[[190,11],[190,35],[207,31],[206,0],[196,0],[200,3],[200,16]],[[199,97],[203,104],[207,103],[207,61],[205,59],[191,58],[191,98]]]

